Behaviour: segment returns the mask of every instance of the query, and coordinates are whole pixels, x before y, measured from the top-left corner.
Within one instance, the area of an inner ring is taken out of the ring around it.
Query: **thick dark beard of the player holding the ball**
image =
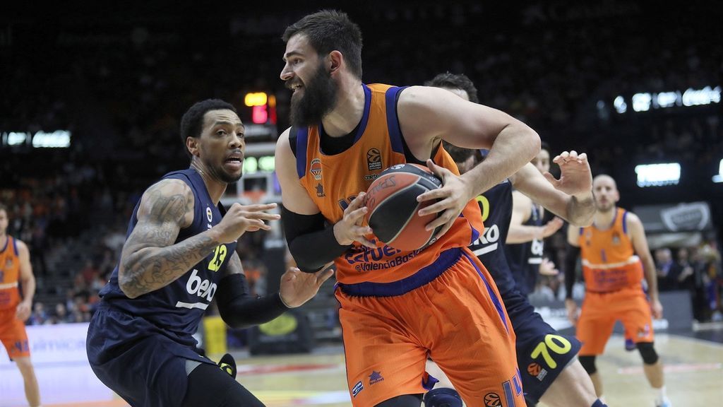
[[[291,124],[296,127],[318,125],[336,104],[337,90],[338,85],[330,72],[323,62],[320,63],[309,83],[304,84],[303,94],[291,96]]]

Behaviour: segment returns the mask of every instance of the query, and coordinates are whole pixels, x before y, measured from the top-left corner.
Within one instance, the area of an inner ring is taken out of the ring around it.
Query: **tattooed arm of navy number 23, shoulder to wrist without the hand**
[[[218,246],[210,232],[173,244],[187,216],[193,214],[193,193],[181,184],[161,182],[143,196],[119,267],[119,285],[129,298],[165,287]]]

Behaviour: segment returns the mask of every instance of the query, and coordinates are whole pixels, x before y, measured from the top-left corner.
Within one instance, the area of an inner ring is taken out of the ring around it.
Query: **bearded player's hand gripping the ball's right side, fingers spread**
[[[416,198],[419,202],[439,200],[435,204],[429,205],[419,210],[419,216],[428,214],[439,214],[437,219],[429,222],[425,227],[427,230],[435,230],[437,226],[442,226],[437,235],[432,238],[432,242],[444,235],[455,219],[462,213],[462,209],[471,199],[469,188],[463,182],[461,177],[455,175],[449,169],[440,167],[431,159],[427,160],[427,167],[442,180],[442,188],[428,190]]]

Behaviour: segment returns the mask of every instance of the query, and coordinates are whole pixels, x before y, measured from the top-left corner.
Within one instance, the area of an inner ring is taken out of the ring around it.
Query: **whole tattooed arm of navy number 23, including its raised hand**
[[[276,204],[233,204],[211,229],[174,244],[181,227],[193,222],[194,196],[181,180],[161,180],[141,198],[138,222],[126,240],[118,267],[118,283],[129,298],[174,282],[218,245],[237,240],[244,232],[269,230],[264,220],[279,219],[265,211]]]

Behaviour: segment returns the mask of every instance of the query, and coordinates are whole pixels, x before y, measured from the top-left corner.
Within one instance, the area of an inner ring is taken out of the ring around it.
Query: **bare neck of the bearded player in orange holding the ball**
[[[330,137],[351,133],[364,116],[364,87],[359,80],[340,83],[334,109],[322,118],[324,132]]]

